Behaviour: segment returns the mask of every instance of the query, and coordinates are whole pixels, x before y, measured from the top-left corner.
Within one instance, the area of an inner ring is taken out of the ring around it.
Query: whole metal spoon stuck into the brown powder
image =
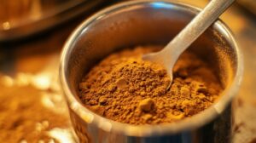
[[[207,28],[218,19],[218,16],[234,2],[235,0],[212,0],[164,49],[160,52],[143,55],[143,60],[153,61],[166,68],[167,74],[171,78],[167,89],[171,87],[172,68],[179,55],[182,54],[185,49],[189,48],[189,45],[206,31]]]

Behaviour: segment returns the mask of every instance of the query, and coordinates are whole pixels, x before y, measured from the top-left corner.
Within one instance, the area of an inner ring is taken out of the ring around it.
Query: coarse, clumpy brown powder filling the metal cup
[[[223,90],[211,66],[184,52],[173,69],[142,60],[161,46],[125,49],[93,67],[79,83],[79,97],[91,111],[120,123],[172,123],[205,110]]]

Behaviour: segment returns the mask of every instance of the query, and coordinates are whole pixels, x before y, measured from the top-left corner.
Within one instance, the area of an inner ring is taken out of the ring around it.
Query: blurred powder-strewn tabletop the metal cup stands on
[[[199,7],[207,3],[179,1]],[[86,16],[22,42],[0,43],[0,140],[74,141],[60,94],[58,64],[63,43]],[[241,90],[233,101],[232,138],[237,143],[253,142],[256,139],[256,16],[235,4],[221,19],[234,31],[245,60]]]

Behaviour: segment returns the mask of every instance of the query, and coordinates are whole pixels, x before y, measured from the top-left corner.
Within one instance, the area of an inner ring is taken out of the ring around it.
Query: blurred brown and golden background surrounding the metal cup
[[[177,0],[203,8],[207,0]],[[0,0],[0,141],[73,143],[58,83],[65,40],[79,23],[121,0]],[[221,16],[244,54],[245,73],[233,101],[237,143],[256,142],[256,1],[237,0]]]

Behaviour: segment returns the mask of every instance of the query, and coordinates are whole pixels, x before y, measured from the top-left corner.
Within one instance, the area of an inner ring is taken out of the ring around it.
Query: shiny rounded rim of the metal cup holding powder
[[[125,9],[129,6],[134,5],[143,5],[143,4],[152,4],[160,3],[175,6],[179,9],[186,9],[186,12],[193,14],[198,14],[201,9],[191,6],[186,3],[179,3],[174,0],[139,0],[131,2],[118,3],[113,6],[110,6],[106,9],[93,14],[90,18],[84,20],[68,37],[67,42],[64,45],[64,48],[61,52],[61,64],[60,64],[60,82],[63,93],[65,94],[67,104],[70,107],[70,110],[75,112],[79,117],[81,117],[85,123],[91,123],[97,126],[99,129],[102,129],[107,132],[119,132],[120,134],[126,134],[131,136],[150,136],[158,134],[176,134],[185,130],[197,129],[204,124],[211,122],[215,117],[218,117],[219,114],[224,112],[224,109],[230,104],[230,101],[236,95],[239,86],[242,80],[243,73],[243,57],[240,49],[236,43],[235,37],[233,36],[230,29],[224,24],[222,20],[217,20],[213,27],[217,31],[220,31],[224,34],[224,38],[230,43],[230,46],[235,50],[237,55],[237,68],[236,75],[230,86],[224,89],[222,94],[220,94],[220,99],[215,102],[212,106],[208,107],[203,112],[195,114],[192,117],[184,118],[180,121],[174,123],[161,123],[157,125],[131,125],[127,123],[119,123],[111,119],[101,117],[94,112],[91,112],[85,106],[83,106],[79,100],[75,98],[75,95],[69,89],[66,77],[68,57],[73,51],[73,43],[79,37],[80,33],[86,30],[86,27],[90,24],[96,22],[96,20],[101,20],[108,14],[119,11],[120,9]]]

